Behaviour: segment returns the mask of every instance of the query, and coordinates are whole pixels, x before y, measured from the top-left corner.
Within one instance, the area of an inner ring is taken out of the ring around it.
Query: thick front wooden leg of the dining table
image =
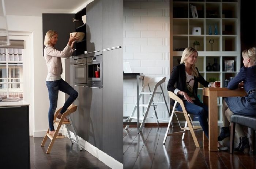
[[[209,151],[217,151],[218,142],[218,91],[210,91],[208,97],[209,107]]]

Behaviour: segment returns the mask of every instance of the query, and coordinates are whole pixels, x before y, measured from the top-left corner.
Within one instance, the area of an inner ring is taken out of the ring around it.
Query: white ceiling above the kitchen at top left
[[[88,1],[91,0],[5,0],[4,3],[6,15],[42,16],[42,13],[72,13]]]

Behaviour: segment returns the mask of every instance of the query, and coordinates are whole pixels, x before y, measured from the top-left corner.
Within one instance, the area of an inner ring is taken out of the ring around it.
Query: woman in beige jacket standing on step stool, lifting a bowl
[[[62,65],[61,58],[68,58],[74,52],[73,46],[75,40],[78,40],[77,37],[70,36],[67,46],[63,51],[58,51],[54,48],[54,45],[57,43],[58,33],[54,30],[49,30],[45,34],[44,40],[44,56],[48,69],[48,74],[46,77],[46,86],[48,88],[50,107],[48,111],[48,120],[49,120],[49,134],[53,135],[55,133],[53,126],[54,112],[57,107],[58,94],[59,90],[67,93],[69,98],[64,103],[60,113],[57,115],[57,118],[61,118],[62,114],[67,110],[67,108],[75,101],[78,97],[77,91],[73,89],[67,82],[61,78],[62,74]],[[65,117],[64,121],[68,121]],[[61,136],[61,133],[58,133],[57,136]]]

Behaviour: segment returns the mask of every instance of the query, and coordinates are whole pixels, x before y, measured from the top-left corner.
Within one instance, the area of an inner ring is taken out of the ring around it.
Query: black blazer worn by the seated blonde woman
[[[208,87],[209,82],[204,80],[203,76],[200,75],[197,67],[196,67],[196,70],[199,76],[197,78],[194,76],[195,83],[193,86],[193,95],[196,101],[200,102],[199,98],[197,97],[198,82],[203,84],[204,87]],[[187,80],[187,76],[185,71],[185,64],[179,64],[177,66],[174,66],[172,70],[172,74],[170,75],[169,82],[167,84],[167,90],[174,92],[174,90],[177,88],[181,91],[186,91],[187,89],[186,80]],[[174,87],[175,84],[176,84],[176,87]],[[183,96],[181,95],[178,95],[178,97],[183,99]],[[172,105],[174,105],[174,102],[175,101],[172,101]]]

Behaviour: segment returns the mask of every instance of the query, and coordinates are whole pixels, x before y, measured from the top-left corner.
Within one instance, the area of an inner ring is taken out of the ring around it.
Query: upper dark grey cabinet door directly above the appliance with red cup
[[[94,0],[86,6],[86,48],[87,53],[102,51],[101,0]]]

